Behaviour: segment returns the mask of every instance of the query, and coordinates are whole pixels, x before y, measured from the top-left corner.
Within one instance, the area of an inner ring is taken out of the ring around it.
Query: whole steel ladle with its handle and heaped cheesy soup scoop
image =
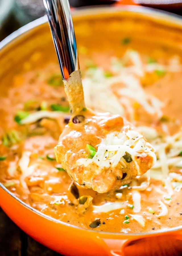
[[[156,162],[154,149],[120,115],[85,107],[69,3],[44,3],[71,108],[71,119],[55,147],[56,160],[80,185],[105,193],[149,170]]]

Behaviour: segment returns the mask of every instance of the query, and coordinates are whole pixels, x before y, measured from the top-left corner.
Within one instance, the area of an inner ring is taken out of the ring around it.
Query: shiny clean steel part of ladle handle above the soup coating
[[[79,70],[75,32],[68,0],[43,0],[63,79]]]

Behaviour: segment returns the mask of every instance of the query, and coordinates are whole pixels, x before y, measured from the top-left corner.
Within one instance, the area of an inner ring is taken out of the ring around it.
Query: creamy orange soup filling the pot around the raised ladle
[[[33,69],[37,51],[0,95],[0,181],[35,209],[78,227],[121,233],[176,227],[182,223],[182,53],[121,35],[119,21],[112,38],[100,37],[95,23],[77,25],[87,35],[77,34],[86,106],[126,117],[155,148],[157,162],[103,194],[73,182],[54,155],[70,117],[59,67],[52,61]]]

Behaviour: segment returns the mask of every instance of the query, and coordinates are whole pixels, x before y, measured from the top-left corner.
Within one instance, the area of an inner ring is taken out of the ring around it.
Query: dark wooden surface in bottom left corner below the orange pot
[[[12,209],[13,211],[13,209]],[[0,208],[0,256],[61,256],[19,229]],[[98,255],[99,256],[99,255]]]

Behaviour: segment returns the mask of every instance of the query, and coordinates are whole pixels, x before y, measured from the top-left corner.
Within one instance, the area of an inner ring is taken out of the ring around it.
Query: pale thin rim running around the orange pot
[[[133,12],[133,13],[138,13],[141,15],[151,15],[151,17],[154,15],[155,18],[160,18],[160,19],[166,19],[166,21],[168,23],[174,23],[174,24],[178,24],[182,26],[182,18],[181,16],[177,15],[177,14],[173,14],[173,13],[169,13],[167,11],[161,11],[158,9],[153,9],[150,7],[141,7],[141,6],[132,6],[132,5],[123,5],[123,6],[95,6],[95,7],[80,7],[80,8],[76,8],[73,9],[72,11],[72,15],[73,17],[79,17],[80,15],[86,16],[86,15],[90,15],[93,14],[93,10],[94,10],[94,14],[100,14],[100,13],[113,13],[113,12],[121,12],[121,11],[128,11],[128,12]],[[32,29],[43,25],[47,23],[47,16],[43,16],[40,17],[39,19],[36,19],[26,25],[24,25],[23,27],[19,28],[18,30],[14,31],[13,33],[11,33],[9,36],[7,36],[5,39],[3,39],[0,42],[0,53],[1,51],[7,47],[8,45],[11,45],[12,43],[14,43],[15,39],[18,39],[18,37],[24,35],[25,33],[28,33],[29,31],[31,31]],[[51,216],[48,216],[44,213],[41,213],[40,211],[34,209],[33,207],[31,207],[30,205],[24,203],[22,200],[20,200],[18,197],[16,197],[12,192],[10,192],[1,182],[0,182],[0,188],[5,190],[11,197],[13,197],[16,201],[18,201],[21,205],[23,205],[24,207],[30,209],[31,211],[33,211],[34,213],[48,219],[51,220],[53,222],[68,226],[68,227],[72,227],[75,229],[79,229],[81,231],[87,231],[87,232],[94,232],[94,233],[99,233],[99,234],[104,234],[104,235],[119,235],[119,236],[136,236],[136,237],[140,237],[140,236],[151,236],[154,234],[163,234],[163,233],[169,233],[169,232],[174,232],[174,231],[179,231],[182,230],[182,225],[177,226],[177,227],[173,227],[173,228],[168,228],[168,229],[162,229],[162,230],[156,230],[156,231],[151,231],[151,232],[142,232],[142,233],[115,233],[115,232],[105,232],[105,231],[96,231],[96,230],[90,230],[90,229],[85,229],[82,227],[77,227],[75,225],[71,225],[69,223],[65,223],[63,221],[54,219]]]

